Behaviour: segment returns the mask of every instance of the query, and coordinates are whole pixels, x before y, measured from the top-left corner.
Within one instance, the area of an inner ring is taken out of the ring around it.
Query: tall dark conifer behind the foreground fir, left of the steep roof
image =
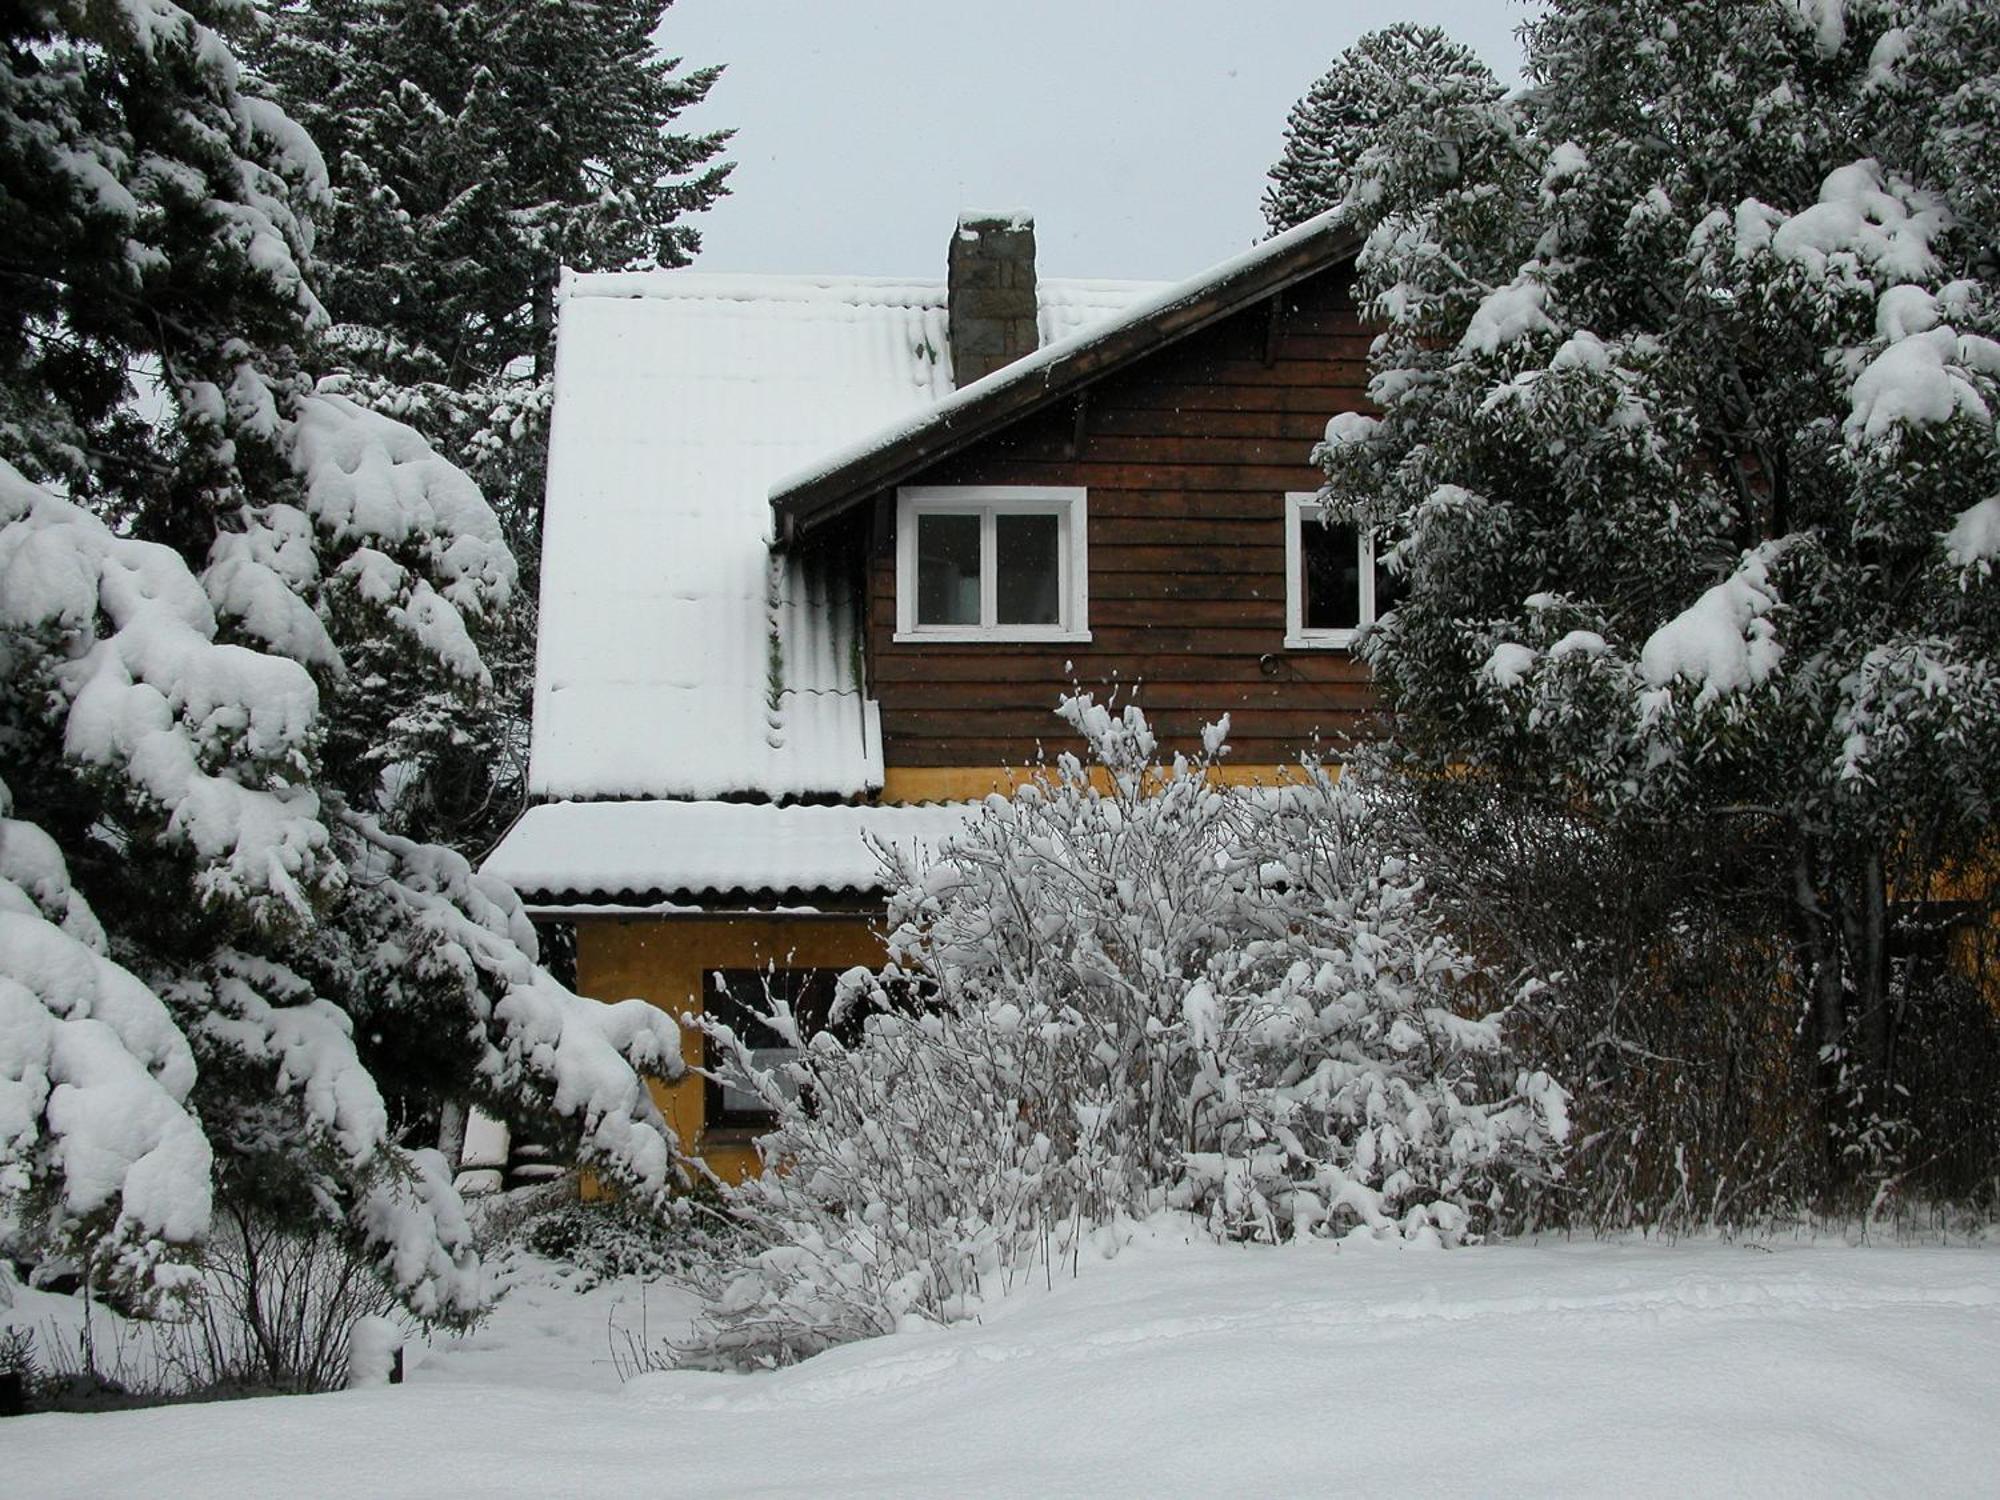
[[[670,126],[718,68],[652,44],[658,0],[290,0],[258,76],[322,146],[332,204],[314,286],[340,386],[464,466],[526,564],[492,632],[480,714],[406,702],[370,744],[398,828],[474,848],[524,776],[562,266],[678,266],[724,192],[726,132]],[[384,664],[392,668],[392,664]],[[372,696],[394,672],[360,674]]]

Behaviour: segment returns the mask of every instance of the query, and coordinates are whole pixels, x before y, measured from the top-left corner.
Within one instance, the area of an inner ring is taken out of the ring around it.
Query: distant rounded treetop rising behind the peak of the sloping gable
[[[1436,26],[1402,20],[1368,32],[1284,118],[1284,152],[1264,188],[1264,222],[1282,234],[1344,202],[1356,162],[1384,126],[1412,110],[1438,118],[1452,102],[1490,104],[1500,92],[1478,54]]]

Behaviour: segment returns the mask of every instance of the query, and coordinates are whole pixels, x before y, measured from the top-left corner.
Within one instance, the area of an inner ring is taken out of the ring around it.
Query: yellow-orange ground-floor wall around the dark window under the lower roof
[[[882,964],[882,938],[856,916],[580,916],[576,990],[596,1000],[638,996],[680,1016],[702,1010],[702,976],[716,968],[852,968]],[[682,1060],[702,1060],[702,1036],[684,1030]],[[654,1100],[686,1150],[736,1182],[758,1170],[754,1136],[702,1128],[702,1080],[654,1080]]]

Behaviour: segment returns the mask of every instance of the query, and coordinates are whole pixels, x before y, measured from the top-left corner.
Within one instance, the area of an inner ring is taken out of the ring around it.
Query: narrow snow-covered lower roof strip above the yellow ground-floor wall
[[[536,898],[872,894],[878,848],[936,852],[976,814],[964,802],[544,802],[480,870]]]

